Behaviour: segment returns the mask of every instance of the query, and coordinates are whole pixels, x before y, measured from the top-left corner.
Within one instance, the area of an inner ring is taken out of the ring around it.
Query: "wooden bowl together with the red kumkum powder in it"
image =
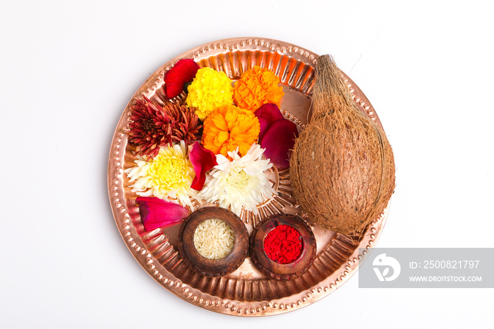
[[[311,267],[316,242],[311,227],[298,216],[272,215],[251,236],[251,260],[263,275],[292,280]]]

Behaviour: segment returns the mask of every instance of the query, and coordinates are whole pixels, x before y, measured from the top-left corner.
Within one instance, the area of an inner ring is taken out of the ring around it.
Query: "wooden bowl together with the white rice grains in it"
[[[195,210],[179,232],[179,252],[197,273],[218,277],[233,272],[248,253],[248,232],[240,218],[219,207]]]

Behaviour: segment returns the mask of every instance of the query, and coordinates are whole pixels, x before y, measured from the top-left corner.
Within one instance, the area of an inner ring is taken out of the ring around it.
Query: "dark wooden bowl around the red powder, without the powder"
[[[272,261],[264,251],[264,239],[267,234],[278,225],[294,227],[303,241],[302,253],[296,261],[280,264]],[[263,275],[277,280],[291,280],[306,273],[315,258],[315,237],[311,227],[298,216],[272,215],[267,217],[262,225],[258,226],[251,236],[251,260]]]

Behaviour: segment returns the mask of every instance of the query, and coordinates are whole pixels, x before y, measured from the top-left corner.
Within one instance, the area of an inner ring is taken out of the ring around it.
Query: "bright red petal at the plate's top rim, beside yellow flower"
[[[173,98],[183,91],[183,84],[194,80],[199,66],[192,59],[181,59],[164,74],[164,95]]]

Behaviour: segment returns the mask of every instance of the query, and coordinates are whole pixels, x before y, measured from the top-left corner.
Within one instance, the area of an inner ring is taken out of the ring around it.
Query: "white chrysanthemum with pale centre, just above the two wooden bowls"
[[[276,193],[265,172],[272,163],[263,160],[264,150],[259,144],[253,144],[243,157],[236,151],[228,152],[231,161],[224,155],[216,155],[218,164],[207,174],[198,197],[217,202],[239,216],[242,207],[257,215],[257,205]]]

